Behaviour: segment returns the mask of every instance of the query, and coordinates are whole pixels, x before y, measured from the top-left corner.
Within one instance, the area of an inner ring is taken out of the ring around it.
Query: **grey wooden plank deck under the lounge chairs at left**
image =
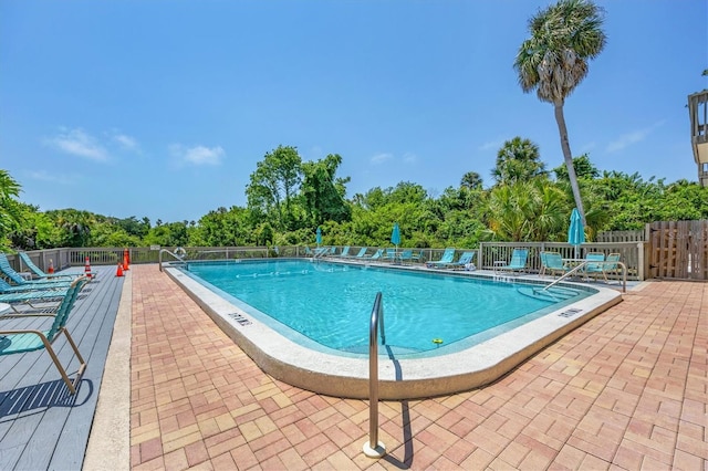
[[[94,271],[98,276],[84,287],[66,324],[87,363],[75,396],[69,394],[46,352],[0,356],[2,470],[82,468],[124,281],[113,268],[94,266]],[[4,320],[2,327],[42,322],[48,321]],[[63,336],[54,346],[71,376],[79,367],[71,347]]]

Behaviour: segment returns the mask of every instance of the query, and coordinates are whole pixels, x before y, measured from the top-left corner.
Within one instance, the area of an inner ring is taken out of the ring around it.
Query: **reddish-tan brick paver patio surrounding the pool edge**
[[[708,469],[708,283],[649,282],[499,381],[368,402],[262,373],[156,265],[133,265],[132,468]]]

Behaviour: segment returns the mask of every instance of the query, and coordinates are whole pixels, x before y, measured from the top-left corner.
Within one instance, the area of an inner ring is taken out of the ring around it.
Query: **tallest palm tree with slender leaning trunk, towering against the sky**
[[[604,10],[587,0],[561,0],[540,10],[529,20],[531,38],[521,43],[513,64],[521,90],[524,93],[535,90],[539,100],[555,108],[563,158],[583,223],[585,211],[573,168],[563,104],[587,75],[587,62],[605,46],[603,20]]]

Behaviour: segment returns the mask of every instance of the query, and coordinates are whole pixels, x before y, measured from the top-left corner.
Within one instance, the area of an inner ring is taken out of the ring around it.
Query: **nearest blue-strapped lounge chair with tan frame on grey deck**
[[[0,355],[13,355],[45,349],[52,358],[52,362],[54,362],[54,366],[56,366],[56,369],[59,369],[62,379],[66,384],[66,387],[72,395],[76,394],[76,387],[81,381],[81,377],[84,374],[84,370],[86,369],[86,362],[81,356],[81,353],[79,352],[74,339],[71,337],[69,331],[66,329],[66,321],[69,320],[69,314],[74,306],[79,292],[87,281],[87,278],[82,276],[80,279],[76,279],[71,284],[56,314],[54,315],[54,321],[52,322],[52,326],[49,328],[49,331],[31,328],[0,328]],[[37,316],[37,314],[34,314],[34,316]],[[18,316],[12,316],[11,318],[17,317]],[[3,317],[0,317],[0,320]],[[54,342],[61,334],[64,334],[66,341],[69,341],[69,344],[74,350],[76,359],[79,360],[79,370],[73,381],[69,378],[66,369],[64,368],[64,366],[62,366],[53,348]]]

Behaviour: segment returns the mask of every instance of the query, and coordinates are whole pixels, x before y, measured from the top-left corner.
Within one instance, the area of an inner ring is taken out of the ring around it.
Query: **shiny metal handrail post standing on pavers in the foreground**
[[[381,317],[381,318],[379,318]],[[376,293],[372,321],[368,326],[368,441],[363,451],[368,458],[386,454],[386,446],[378,441],[378,324],[381,322],[382,344],[386,343],[384,333],[384,307],[381,291]]]

